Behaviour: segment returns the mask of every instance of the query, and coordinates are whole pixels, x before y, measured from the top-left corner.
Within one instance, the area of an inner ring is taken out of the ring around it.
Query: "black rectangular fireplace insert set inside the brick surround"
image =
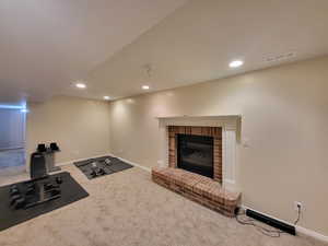
[[[177,166],[213,178],[213,138],[177,134]]]

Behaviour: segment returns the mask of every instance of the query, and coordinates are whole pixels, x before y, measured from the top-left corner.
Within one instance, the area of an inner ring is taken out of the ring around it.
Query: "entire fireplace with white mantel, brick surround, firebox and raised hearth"
[[[236,148],[241,117],[159,117],[163,147],[152,180],[227,216],[241,202]],[[210,171],[210,172],[209,172]]]

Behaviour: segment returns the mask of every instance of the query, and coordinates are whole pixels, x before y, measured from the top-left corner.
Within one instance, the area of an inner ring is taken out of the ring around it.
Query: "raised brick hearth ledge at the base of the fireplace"
[[[225,190],[211,178],[173,167],[152,168],[154,183],[226,216],[234,216],[241,192]]]

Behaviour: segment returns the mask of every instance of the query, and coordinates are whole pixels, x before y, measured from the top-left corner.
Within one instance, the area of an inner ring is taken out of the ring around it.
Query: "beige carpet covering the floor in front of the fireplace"
[[[63,171],[90,197],[0,232],[1,246],[324,245],[300,236],[267,237],[153,184],[138,167],[94,180],[74,166]]]

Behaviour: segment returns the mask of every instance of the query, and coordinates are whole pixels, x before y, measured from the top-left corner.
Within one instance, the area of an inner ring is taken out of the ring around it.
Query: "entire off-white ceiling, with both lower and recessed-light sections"
[[[0,102],[116,99],[327,55],[327,0],[1,0]]]

